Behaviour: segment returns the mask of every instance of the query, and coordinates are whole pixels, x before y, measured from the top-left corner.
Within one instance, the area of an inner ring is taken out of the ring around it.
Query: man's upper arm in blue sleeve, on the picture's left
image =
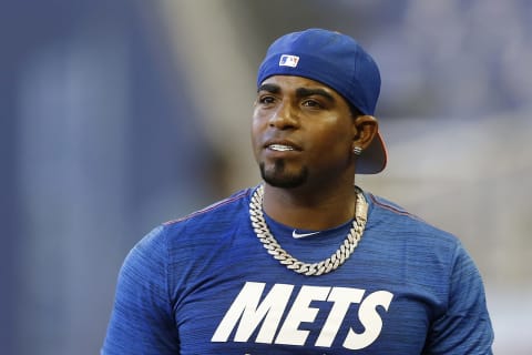
[[[178,354],[163,227],[153,230],[122,265],[102,355]]]

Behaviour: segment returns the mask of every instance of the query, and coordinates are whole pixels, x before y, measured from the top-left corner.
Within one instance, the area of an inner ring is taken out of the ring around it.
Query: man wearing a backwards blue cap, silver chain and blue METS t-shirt
[[[289,33],[257,88],[264,182],[131,251],[102,354],[491,354],[458,239],[354,185],[387,159],[369,54],[337,32]]]

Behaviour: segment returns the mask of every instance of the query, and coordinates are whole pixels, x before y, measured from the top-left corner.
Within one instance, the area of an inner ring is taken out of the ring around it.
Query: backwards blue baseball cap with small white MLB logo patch
[[[257,88],[273,75],[319,81],[368,115],[374,115],[380,93],[375,60],[351,37],[323,29],[288,33],[272,43],[258,69]],[[386,162],[386,145],[378,132],[358,158],[357,173],[379,173]]]

